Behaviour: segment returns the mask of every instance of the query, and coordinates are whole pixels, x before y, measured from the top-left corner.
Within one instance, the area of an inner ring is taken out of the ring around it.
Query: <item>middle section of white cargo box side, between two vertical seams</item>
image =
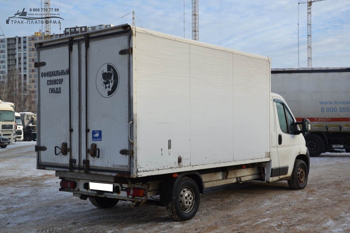
[[[233,161],[232,53],[191,45],[191,165]]]

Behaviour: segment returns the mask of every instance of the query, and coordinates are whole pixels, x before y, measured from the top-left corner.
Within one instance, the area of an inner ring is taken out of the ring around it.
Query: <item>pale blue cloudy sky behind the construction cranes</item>
[[[298,67],[298,2],[199,0],[199,40],[269,56],[272,68]],[[8,17],[18,10],[26,8],[27,13],[33,13],[30,9],[44,8],[40,0],[0,0],[0,6],[0,25],[5,37],[30,36],[41,29],[40,24],[6,24]],[[191,0],[51,0],[51,8],[59,9],[59,17],[63,18],[61,33],[64,28],[76,25],[131,24],[132,14],[119,18],[134,10],[136,26],[192,37]],[[51,24],[53,33],[60,33],[58,24]],[[299,5],[299,43],[299,66],[307,67],[307,4]],[[313,3],[312,65],[350,66],[349,0]]]

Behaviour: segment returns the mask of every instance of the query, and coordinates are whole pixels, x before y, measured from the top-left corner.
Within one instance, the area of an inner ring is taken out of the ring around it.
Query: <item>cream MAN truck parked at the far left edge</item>
[[[0,136],[8,138],[10,142],[16,140],[16,121],[13,107],[0,100]]]

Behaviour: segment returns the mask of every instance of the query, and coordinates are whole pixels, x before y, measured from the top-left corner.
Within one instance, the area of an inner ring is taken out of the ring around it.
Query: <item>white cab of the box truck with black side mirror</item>
[[[283,97],[275,93],[271,93],[270,109],[271,162],[266,163],[266,170],[271,172],[267,172],[266,182],[288,180],[289,184],[296,160],[302,160],[306,164],[303,172],[309,172],[310,157],[303,135],[308,134],[310,122],[307,119],[296,122]],[[300,130],[299,124],[304,124],[303,130]],[[302,180],[303,177],[298,179]],[[298,188],[303,184],[306,185],[306,182],[300,181]]]

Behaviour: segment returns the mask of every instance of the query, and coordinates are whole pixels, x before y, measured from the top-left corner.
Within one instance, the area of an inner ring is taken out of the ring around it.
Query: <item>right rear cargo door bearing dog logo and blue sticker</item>
[[[82,94],[86,95],[82,96],[81,150],[89,151],[83,153],[82,163],[89,161],[89,170],[128,172],[130,156],[120,151],[130,148],[129,34],[90,37],[88,47],[84,42],[81,50],[82,58],[87,54],[82,62],[82,76],[86,77]]]

